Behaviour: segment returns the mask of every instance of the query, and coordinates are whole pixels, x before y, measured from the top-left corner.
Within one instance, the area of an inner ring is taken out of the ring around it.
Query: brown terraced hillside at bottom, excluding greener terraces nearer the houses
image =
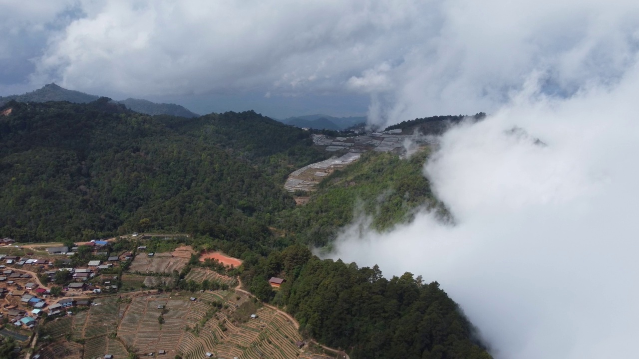
[[[263,307],[256,310],[255,319],[248,315],[245,320],[237,319],[236,310],[250,301],[245,294],[206,291],[194,294],[196,300],[187,295],[134,298],[119,323],[119,339],[139,355],[159,350],[166,350],[170,357],[179,354],[183,358],[206,358],[205,353],[255,359],[305,355],[295,345],[302,340],[295,326],[275,310]],[[223,303],[224,307],[218,310],[210,303]]]

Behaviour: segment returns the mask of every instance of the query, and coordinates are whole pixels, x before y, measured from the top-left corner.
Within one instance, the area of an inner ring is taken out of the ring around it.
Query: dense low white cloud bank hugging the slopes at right
[[[424,174],[454,225],[355,224],[333,257],[437,280],[496,358],[635,357],[639,68],[569,98],[539,88],[440,138]]]

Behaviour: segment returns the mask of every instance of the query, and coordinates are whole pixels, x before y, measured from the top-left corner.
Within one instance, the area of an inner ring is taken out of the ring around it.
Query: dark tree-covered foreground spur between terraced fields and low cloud
[[[252,293],[286,306],[302,333],[352,358],[491,358],[437,282],[412,273],[386,279],[377,266],[320,260],[300,245],[247,259],[242,277]],[[277,292],[266,282],[273,275],[286,279]]]

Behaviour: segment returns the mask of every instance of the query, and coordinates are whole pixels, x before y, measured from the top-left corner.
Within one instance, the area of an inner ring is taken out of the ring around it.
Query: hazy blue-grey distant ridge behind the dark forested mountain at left
[[[22,95],[0,96],[0,106],[16,100],[17,102],[48,102],[48,101],[68,101],[72,103],[89,103],[100,98],[100,96],[90,95],[80,91],[62,88],[56,84],[46,84],[41,89],[27,92]],[[142,114],[158,115],[166,114],[171,116],[181,116],[185,118],[199,117],[199,114],[189,111],[181,105],[174,103],[155,103],[137,98],[127,98],[126,100],[114,101],[122,103],[128,109]]]

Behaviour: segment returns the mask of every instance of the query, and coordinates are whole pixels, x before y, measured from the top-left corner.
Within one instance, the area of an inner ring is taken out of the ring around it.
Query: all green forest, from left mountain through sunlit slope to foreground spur
[[[353,359],[489,359],[436,282],[410,273],[387,279],[376,266],[321,260],[309,250],[330,243],[357,206],[378,229],[420,205],[446,217],[421,175],[427,155],[367,153],[296,207],[284,179],[328,156],[299,128],[253,111],[180,118],[140,114],[109,98],[12,101],[0,107],[0,235],[190,233],[195,248],[243,259],[232,272],[252,293],[295,316],[305,336]],[[194,256],[190,265],[203,264]],[[279,291],[271,276],[286,279]]]

